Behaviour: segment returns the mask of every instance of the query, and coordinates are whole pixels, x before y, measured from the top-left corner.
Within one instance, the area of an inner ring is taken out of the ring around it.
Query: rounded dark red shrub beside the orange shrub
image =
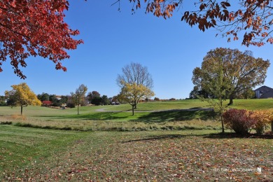
[[[255,126],[256,120],[252,111],[229,109],[223,113],[223,122],[237,134],[248,134]]]

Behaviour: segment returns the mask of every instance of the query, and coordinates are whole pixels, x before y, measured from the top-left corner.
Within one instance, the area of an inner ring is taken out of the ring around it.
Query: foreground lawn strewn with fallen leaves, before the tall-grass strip
[[[273,179],[272,139],[243,139],[217,132],[74,132],[0,125],[0,179]],[[257,167],[261,174],[255,172]]]

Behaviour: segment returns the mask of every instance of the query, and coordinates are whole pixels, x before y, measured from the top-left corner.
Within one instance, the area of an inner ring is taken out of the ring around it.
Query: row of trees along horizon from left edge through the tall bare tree
[[[123,74],[118,75],[117,78],[120,93],[114,97],[101,96],[97,91],[88,92],[86,95],[87,86],[83,84],[75,92],[71,92],[70,95],[57,96],[56,94],[45,92],[36,95],[31,91],[27,83],[21,83],[19,85],[12,85],[13,90],[6,90],[5,97],[0,97],[0,104],[3,103],[3,105],[6,104],[12,107],[20,106],[22,115],[22,108],[28,105],[62,106],[62,108],[77,106],[79,114],[80,106],[87,106],[88,104],[99,106],[125,102],[132,106],[132,114],[134,115],[134,109],[137,109],[137,104],[141,100],[145,99],[148,101],[154,96],[154,92],[152,91],[153,79],[150,73],[148,73],[147,67],[139,63],[131,62],[131,64],[124,66],[122,70]],[[7,100],[6,102],[2,102],[2,99]]]

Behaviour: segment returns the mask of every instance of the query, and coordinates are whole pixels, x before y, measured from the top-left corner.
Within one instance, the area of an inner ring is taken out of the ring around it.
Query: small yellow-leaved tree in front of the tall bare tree
[[[132,115],[134,116],[134,108],[140,99],[151,98],[155,94],[148,87],[137,83],[123,83],[123,87],[118,94],[118,99],[129,103],[132,106]]]

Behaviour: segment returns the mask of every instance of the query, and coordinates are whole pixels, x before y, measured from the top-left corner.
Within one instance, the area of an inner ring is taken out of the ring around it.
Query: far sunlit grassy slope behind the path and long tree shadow
[[[228,103],[228,101],[226,102]],[[172,102],[147,102],[139,103],[136,111],[160,111],[172,109],[196,109],[209,107],[207,102],[200,102],[198,99],[179,100]],[[235,99],[231,108],[236,109],[272,109],[273,99]],[[97,109],[105,111],[130,111],[129,104],[121,104],[119,106],[88,106],[80,107],[80,113],[92,113]],[[49,109],[40,106],[27,106],[23,109],[23,113],[27,116],[64,116],[75,115],[75,109]],[[0,116],[20,114],[20,108],[0,107]]]

